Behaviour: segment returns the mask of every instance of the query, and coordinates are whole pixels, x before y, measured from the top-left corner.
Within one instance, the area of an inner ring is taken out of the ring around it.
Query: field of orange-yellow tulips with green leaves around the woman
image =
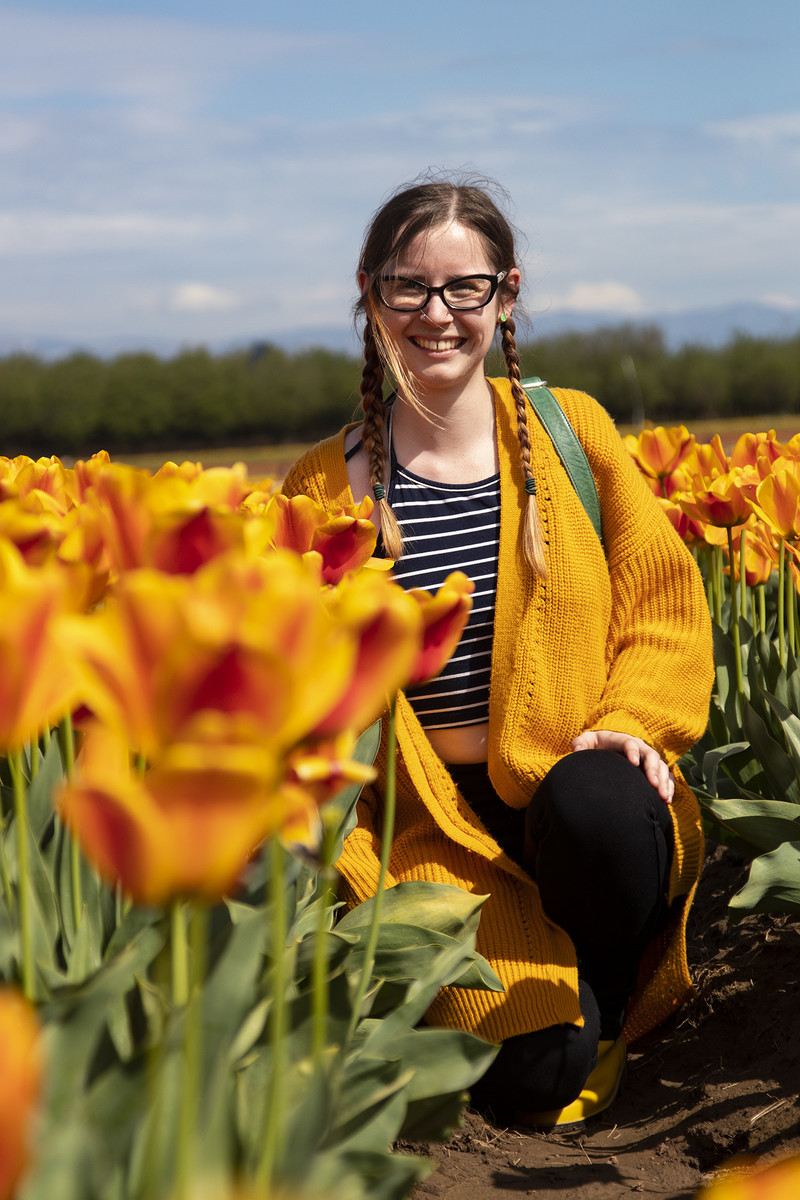
[[[682,762],[800,912],[800,436],[628,451],[703,570],[717,685]],[[471,583],[403,592],[372,504],[243,464],[0,458],[0,1200],[402,1200],[494,1046],[422,1024],[500,988],[481,899],[335,863],[398,689]],[[387,869],[392,780],[385,797]],[[721,1193],[722,1194],[722,1193]]]

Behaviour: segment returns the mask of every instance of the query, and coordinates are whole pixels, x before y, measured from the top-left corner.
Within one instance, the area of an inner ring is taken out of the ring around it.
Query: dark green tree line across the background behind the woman
[[[525,376],[590,392],[625,424],[800,413],[800,336],[669,350],[657,326],[619,325],[542,338],[521,348],[521,362]],[[488,367],[503,373],[498,352]],[[0,454],[312,442],[351,419],[360,376],[348,354],[269,343],[168,360],[13,354],[0,359]]]

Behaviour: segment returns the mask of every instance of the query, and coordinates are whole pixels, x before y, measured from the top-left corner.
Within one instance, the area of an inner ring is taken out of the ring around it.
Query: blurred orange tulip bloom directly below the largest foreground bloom
[[[213,901],[235,888],[265,836],[307,835],[313,802],[299,791],[282,796],[279,782],[266,748],[215,742],[211,731],[204,743],[164,751],[140,775],[125,742],[95,726],[58,808],[86,858],[138,904]]]

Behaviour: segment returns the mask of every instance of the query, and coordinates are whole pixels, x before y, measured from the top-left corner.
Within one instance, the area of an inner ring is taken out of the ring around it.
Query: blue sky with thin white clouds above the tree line
[[[800,4],[0,0],[0,344],[343,325],[431,167],[507,190],[534,329],[800,316]]]

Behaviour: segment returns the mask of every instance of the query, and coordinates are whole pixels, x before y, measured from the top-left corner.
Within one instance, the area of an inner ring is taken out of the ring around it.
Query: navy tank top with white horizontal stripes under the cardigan
[[[403,588],[435,593],[452,571],[463,571],[475,584],[456,653],[435,679],[409,688],[408,700],[425,728],[480,725],[489,713],[500,475],[438,484],[401,467],[392,446],[387,499],[403,532],[403,556],[392,571]],[[380,539],[375,553],[384,554]]]

